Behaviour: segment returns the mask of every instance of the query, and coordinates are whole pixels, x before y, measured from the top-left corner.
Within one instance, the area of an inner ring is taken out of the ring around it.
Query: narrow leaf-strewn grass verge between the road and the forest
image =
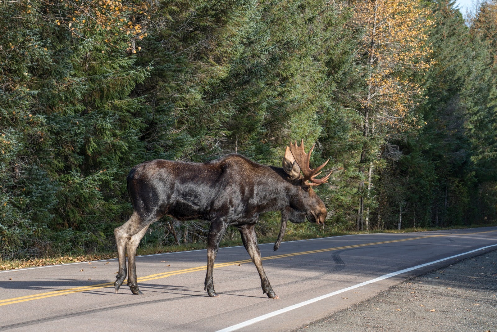
[[[373,231],[344,231],[344,232],[330,232],[322,233],[317,235],[316,233],[299,233],[292,235],[285,235],[284,241],[295,241],[295,240],[308,240],[314,238],[323,238],[330,236],[341,236],[341,235],[353,235],[353,234],[368,234],[368,233],[411,233],[411,232],[426,232],[426,231],[436,231],[436,230],[447,230],[447,229],[462,229],[462,228],[477,228],[477,227],[489,227],[496,226],[497,224],[486,224],[486,225],[470,225],[470,226],[452,226],[452,227],[425,227],[425,228],[407,228],[402,230],[373,230]],[[272,243],[276,241],[276,237],[259,237],[258,243]],[[221,242],[221,247],[233,247],[242,246],[241,240],[224,240]],[[144,248],[138,248],[137,255],[152,255],[152,254],[163,254],[163,253],[173,253],[179,251],[187,250],[198,250],[205,249],[205,243],[188,243],[179,246],[150,246]],[[57,256],[57,257],[47,257],[47,258],[26,258],[21,260],[4,260],[0,261],[0,270],[17,269],[23,267],[33,267],[33,266],[46,266],[46,265],[57,265],[57,264],[68,264],[68,263],[78,263],[78,262],[89,262],[98,260],[107,260],[117,258],[116,252],[107,253],[93,253],[82,256]]]

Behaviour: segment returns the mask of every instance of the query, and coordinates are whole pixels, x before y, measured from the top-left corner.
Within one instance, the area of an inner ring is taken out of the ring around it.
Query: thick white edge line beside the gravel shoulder
[[[465,252],[465,253],[462,253],[462,254],[458,254],[458,255],[454,255],[454,256],[442,258],[440,260],[436,260],[436,261],[433,261],[433,262],[429,262],[429,263],[425,263],[425,264],[421,264],[421,265],[416,265],[416,266],[408,267],[408,268],[405,268],[405,269],[402,269],[402,270],[399,270],[399,271],[395,271],[395,272],[391,272],[391,273],[388,273],[388,274],[384,274],[384,275],[381,275],[381,276],[379,276],[377,278],[374,278],[374,279],[371,279],[371,280],[368,280],[368,281],[364,281],[364,282],[358,283],[356,285],[353,285],[353,286],[350,286],[350,287],[347,287],[347,288],[336,290],[334,292],[331,292],[331,293],[328,293],[328,294],[325,294],[325,295],[321,295],[321,296],[315,297],[313,299],[310,299],[310,300],[307,300],[307,301],[304,301],[304,302],[300,302],[300,303],[294,304],[292,306],[289,306],[289,307],[286,307],[286,308],[283,308],[283,309],[279,309],[279,310],[273,311],[271,313],[267,313],[267,314],[259,316],[259,317],[252,318],[252,319],[250,319],[248,321],[245,321],[245,322],[242,322],[242,323],[230,326],[228,328],[219,330],[217,332],[231,332],[231,331],[240,330],[240,329],[245,328],[245,327],[247,327],[249,325],[258,323],[260,321],[266,320],[268,318],[271,318],[271,317],[274,317],[274,316],[277,316],[277,315],[280,315],[280,314],[283,314],[283,313],[286,313],[286,312],[288,312],[290,310],[294,310],[294,309],[306,306],[308,304],[311,304],[311,303],[314,303],[314,302],[317,302],[317,301],[329,298],[329,297],[331,297],[333,295],[337,295],[337,294],[346,292],[346,291],[351,290],[351,289],[362,287],[362,286],[368,285],[368,284],[373,283],[373,282],[381,281],[383,279],[391,278],[391,277],[396,276],[398,274],[410,272],[410,271],[415,270],[417,268],[421,268],[421,267],[424,267],[424,266],[428,266],[428,265],[440,263],[440,262],[443,262],[443,261],[446,261],[446,260],[450,260],[451,258],[455,258],[455,257],[459,257],[459,256],[471,254],[471,253],[474,253],[474,252],[477,252],[477,251],[480,251],[480,250],[484,250],[484,249],[487,249],[487,248],[492,248],[492,247],[497,247],[497,244],[494,244],[494,245],[491,245],[491,246],[482,247],[482,248],[478,248],[478,249],[471,250],[471,251],[468,251],[468,252]]]

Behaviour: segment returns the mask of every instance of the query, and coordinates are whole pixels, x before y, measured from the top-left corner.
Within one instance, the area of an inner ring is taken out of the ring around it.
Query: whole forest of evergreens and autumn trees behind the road
[[[1,0],[0,29],[0,260],[114,250],[138,163],[281,167],[302,138],[312,164],[330,158],[329,213],[287,234],[497,221],[496,0],[467,16],[448,0]],[[164,217],[142,245],[207,231]]]

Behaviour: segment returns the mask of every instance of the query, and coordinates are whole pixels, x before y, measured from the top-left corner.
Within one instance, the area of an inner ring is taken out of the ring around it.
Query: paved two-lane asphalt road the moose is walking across
[[[205,250],[137,258],[144,295],[112,286],[117,260],[0,272],[0,330],[291,331],[413,276],[497,249],[497,227],[364,234],[260,245],[279,300],[262,294],[243,247],[219,250],[203,290]],[[10,279],[11,278],[11,279]]]

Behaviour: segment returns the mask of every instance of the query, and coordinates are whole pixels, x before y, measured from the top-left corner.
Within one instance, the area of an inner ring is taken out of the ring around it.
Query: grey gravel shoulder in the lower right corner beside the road
[[[414,277],[295,331],[497,332],[497,250]]]

